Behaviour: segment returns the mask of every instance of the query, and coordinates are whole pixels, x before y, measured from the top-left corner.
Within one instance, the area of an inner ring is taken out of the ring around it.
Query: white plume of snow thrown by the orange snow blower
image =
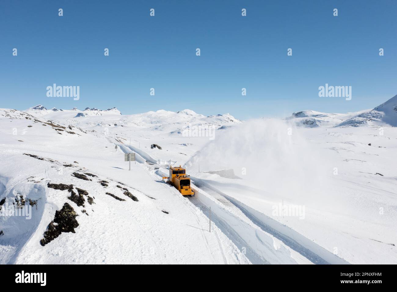
[[[200,164],[204,172],[233,169],[266,199],[305,204],[324,194],[333,174],[323,151],[285,121],[251,120],[218,134],[185,166]],[[242,191],[249,195],[250,190]]]

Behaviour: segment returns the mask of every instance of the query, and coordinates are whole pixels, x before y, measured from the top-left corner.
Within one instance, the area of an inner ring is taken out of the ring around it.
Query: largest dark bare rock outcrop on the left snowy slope
[[[74,228],[79,226],[76,216],[78,215],[74,209],[68,203],[65,203],[61,210],[55,212],[54,220],[48,224],[48,228],[44,232],[44,238],[40,240],[40,244],[45,246],[60,236],[62,232],[75,233]]]

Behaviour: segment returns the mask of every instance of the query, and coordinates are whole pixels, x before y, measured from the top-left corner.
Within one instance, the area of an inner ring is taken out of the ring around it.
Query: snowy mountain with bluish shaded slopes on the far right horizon
[[[294,112],[286,118],[296,126],[306,128],[339,126],[397,126],[397,95],[372,110],[347,114],[328,114],[313,110]]]

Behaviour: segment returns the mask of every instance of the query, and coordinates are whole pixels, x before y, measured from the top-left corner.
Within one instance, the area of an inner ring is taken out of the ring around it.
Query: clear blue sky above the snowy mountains
[[[241,119],[373,108],[397,94],[396,16],[396,0],[1,0],[0,107]],[[53,83],[80,86],[80,100],[47,97]],[[325,83],[352,86],[352,100],[318,97]]]

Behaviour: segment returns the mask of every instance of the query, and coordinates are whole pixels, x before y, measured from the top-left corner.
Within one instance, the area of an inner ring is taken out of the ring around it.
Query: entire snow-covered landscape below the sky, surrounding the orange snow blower
[[[397,128],[357,115],[0,109],[0,263],[396,264]]]

